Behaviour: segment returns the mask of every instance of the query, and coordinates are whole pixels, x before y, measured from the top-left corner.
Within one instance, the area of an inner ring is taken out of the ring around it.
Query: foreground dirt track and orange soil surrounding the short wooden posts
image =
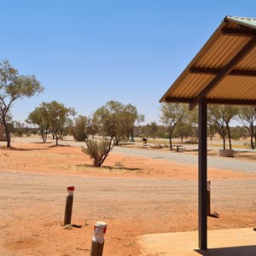
[[[195,181],[8,172],[0,178],[1,255],[84,255],[96,220],[108,223],[106,255],[138,255],[138,235],[197,229]],[[70,183],[76,187],[73,223],[82,224],[80,230],[61,226]],[[216,181],[212,210],[220,218],[210,218],[209,228],[253,227],[255,188],[255,180]]]

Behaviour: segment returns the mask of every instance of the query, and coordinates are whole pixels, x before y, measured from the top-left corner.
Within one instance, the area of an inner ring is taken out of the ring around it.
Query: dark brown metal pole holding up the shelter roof
[[[207,249],[207,99],[199,98],[198,220],[199,248]]]

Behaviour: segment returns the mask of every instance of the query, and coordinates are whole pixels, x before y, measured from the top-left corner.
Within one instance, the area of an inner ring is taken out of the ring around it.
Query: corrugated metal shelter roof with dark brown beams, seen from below
[[[256,105],[256,19],[226,16],[160,102]]]

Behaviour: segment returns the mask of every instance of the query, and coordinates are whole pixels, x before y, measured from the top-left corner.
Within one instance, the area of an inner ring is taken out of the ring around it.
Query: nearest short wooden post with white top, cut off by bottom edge
[[[107,231],[107,224],[102,221],[97,221],[94,226],[92,236],[90,256],[102,256],[104,247],[104,236]]]

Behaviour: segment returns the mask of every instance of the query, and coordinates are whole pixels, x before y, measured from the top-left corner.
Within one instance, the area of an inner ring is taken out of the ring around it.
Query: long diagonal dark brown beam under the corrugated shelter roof
[[[212,81],[207,84],[205,89],[201,90],[198,96],[195,97],[193,102],[189,104],[189,109],[192,110],[198,104],[198,100],[201,96],[207,96],[207,94],[220,83],[227,75],[230,73],[231,69],[236,65],[238,61],[241,61],[242,57],[249,52],[253,46],[256,44],[256,37],[253,37],[238,53],[233,57],[233,59],[218,73],[218,75],[212,79]]]

